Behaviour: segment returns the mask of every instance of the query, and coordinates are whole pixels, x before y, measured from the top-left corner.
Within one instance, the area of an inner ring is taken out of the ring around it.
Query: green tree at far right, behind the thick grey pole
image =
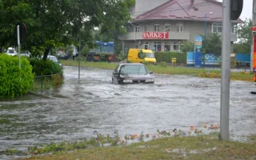
[[[252,20],[245,19],[243,24],[236,27],[236,33],[238,35],[239,45],[234,46],[234,52],[250,53],[252,44]]]

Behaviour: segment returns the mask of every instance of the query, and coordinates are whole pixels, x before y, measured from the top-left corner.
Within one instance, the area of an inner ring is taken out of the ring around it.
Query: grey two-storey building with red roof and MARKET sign
[[[182,42],[194,42],[205,29],[206,34],[222,35],[222,3],[213,0],[136,0],[131,17],[128,34],[120,37],[124,53],[129,48],[180,52]],[[232,21],[231,43],[237,41],[238,23],[242,20]]]

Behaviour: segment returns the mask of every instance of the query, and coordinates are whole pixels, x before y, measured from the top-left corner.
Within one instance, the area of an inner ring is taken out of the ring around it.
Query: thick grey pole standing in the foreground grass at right
[[[222,11],[222,61],[221,61],[221,134],[229,141],[230,54],[231,54],[231,1],[223,0]]]

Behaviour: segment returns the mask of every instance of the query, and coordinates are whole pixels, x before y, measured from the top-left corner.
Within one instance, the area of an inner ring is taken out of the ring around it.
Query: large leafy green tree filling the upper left
[[[120,24],[130,19],[128,9],[134,3],[134,0],[1,0],[0,42],[4,46],[16,45],[13,30],[18,22],[24,22],[28,34],[22,47],[34,56],[43,53],[46,59],[50,49],[72,43],[78,46],[80,39],[90,47],[94,27],[103,26],[102,32],[106,34],[121,30]]]

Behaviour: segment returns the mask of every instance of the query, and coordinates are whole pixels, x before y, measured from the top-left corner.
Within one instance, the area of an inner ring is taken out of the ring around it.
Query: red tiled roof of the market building
[[[207,19],[212,22],[222,22],[222,3],[214,0],[195,0],[194,5],[190,5],[190,0],[169,0],[150,11],[139,15],[134,21],[138,20],[160,20],[160,19],[191,19],[204,20],[205,14]],[[241,19],[232,21],[234,23],[243,23]]]

